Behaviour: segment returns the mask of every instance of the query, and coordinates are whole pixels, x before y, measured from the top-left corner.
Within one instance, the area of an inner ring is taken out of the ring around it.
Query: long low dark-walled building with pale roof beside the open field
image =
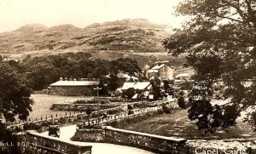
[[[49,94],[96,95],[98,81],[58,81],[49,85]]]

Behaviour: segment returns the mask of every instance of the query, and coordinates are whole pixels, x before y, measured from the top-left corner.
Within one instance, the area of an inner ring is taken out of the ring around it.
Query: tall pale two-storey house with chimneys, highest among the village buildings
[[[169,61],[161,61],[155,63],[154,66],[149,67],[146,72],[146,77],[152,79],[158,77],[160,80],[173,81],[174,68],[169,66]]]

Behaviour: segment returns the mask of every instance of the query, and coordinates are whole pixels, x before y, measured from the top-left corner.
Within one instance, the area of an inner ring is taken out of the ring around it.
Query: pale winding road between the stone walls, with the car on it
[[[61,136],[60,138],[55,138],[62,141],[68,141],[69,143],[76,145],[92,145],[92,154],[103,154],[103,153],[111,153],[111,154],[154,154],[150,151],[144,151],[142,149],[134,148],[131,146],[124,145],[113,145],[108,143],[90,143],[90,142],[79,142],[72,141],[70,138],[76,131],[76,125],[66,126],[61,128]],[[48,132],[44,132],[41,135],[48,136]]]

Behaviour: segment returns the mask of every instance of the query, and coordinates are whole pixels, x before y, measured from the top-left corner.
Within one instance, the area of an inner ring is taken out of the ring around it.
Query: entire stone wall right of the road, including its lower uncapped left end
[[[157,153],[179,154],[193,153],[195,149],[186,145],[186,139],[166,137],[155,134],[140,133],[125,129],[112,128],[110,126],[102,129],[84,129],[76,132],[76,140],[87,139],[87,141],[97,141],[112,143],[117,145],[129,145],[147,151]]]

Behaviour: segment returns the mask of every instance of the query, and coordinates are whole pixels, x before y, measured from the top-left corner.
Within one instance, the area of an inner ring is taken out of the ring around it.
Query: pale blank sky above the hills
[[[0,0],[0,32],[28,24],[85,27],[105,21],[143,18],[180,26],[174,13],[182,0]]]

